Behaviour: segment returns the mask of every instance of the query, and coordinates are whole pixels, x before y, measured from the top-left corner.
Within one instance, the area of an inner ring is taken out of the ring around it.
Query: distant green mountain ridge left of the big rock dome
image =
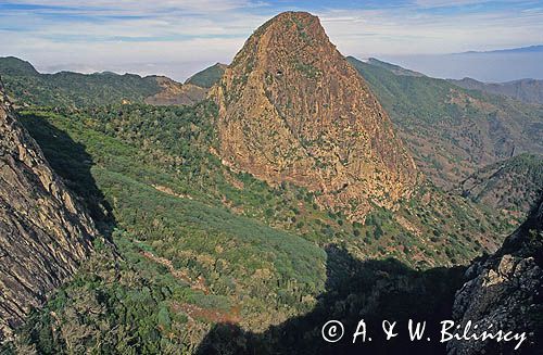
[[[61,71],[41,74],[14,56],[0,58],[0,75],[17,105],[102,105],[149,102],[155,105],[191,105],[205,98],[207,88],[182,85],[159,75],[81,74]]]

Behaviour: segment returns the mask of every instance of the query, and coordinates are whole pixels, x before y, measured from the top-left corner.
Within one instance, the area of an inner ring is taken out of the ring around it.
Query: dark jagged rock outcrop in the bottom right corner
[[[492,331],[527,332],[515,353],[541,352],[543,339],[543,202],[509,236],[502,249],[467,271],[470,281],[456,293],[453,317]],[[513,342],[456,341],[449,354],[509,354]]]

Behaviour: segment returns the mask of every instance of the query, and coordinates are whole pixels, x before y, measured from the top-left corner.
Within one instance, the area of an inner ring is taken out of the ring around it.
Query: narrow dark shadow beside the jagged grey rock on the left
[[[100,233],[111,241],[116,225],[111,205],[98,188],[90,168],[94,164],[85,145],[66,132],[34,115],[20,115],[20,121],[38,142],[51,168],[63,178],[94,220]]]

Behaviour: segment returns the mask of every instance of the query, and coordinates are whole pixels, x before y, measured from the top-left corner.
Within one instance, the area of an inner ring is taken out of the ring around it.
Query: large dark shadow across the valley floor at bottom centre
[[[202,341],[198,354],[445,354],[440,343],[440,321],[452,319],[455,291],[464,282],[464,267],[414,270],[395,259],[365,261],[346,251],[327,249],[326,291],[306,315],[253,333],[230,324],[216,325]],[[321,327],[341,320],[343,338],[327,343]],[[358,321],[367,325],[367,337],[353,334]],[[397,321],[399,335],[386,341],[382,320]],[[411,341],[408,319],[427,321],[425,337]],[[430,338],[431,341],[428,341]]]

